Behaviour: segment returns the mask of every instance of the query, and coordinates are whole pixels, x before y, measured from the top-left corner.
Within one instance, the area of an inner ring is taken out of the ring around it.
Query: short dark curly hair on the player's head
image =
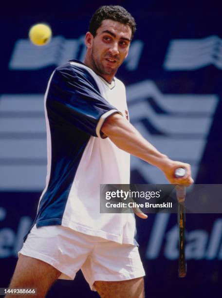
[[[136,31],[136,22],[130,13],[119,5],[104,5],[100,6],[96,10],[90,20],[89,32],[93,35],[93,37],[96,36],[96,31],[102,25],[102,21],[104,19],[112,19],[122,24],[129,25],[132,31],[131,39],[134,36]]]

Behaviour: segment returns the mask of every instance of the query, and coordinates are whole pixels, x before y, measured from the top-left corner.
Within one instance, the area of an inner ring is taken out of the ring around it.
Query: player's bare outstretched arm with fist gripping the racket
[[[109,116],[101,128],[102,132],[119,148],[149,164],[161,169],[172,184],[191,185],[190,165],[170,160],[152,146],[133,125],[118,113]],[[185,168],[187,174],[183,178],[175,178],[176,168]]]

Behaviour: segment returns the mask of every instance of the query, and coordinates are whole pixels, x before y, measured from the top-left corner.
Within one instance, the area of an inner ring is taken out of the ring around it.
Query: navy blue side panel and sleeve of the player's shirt
[[[33,223],[37,227],[62,223],[75,173],[90,136],[96,136],[100,117],[105,112],[116,110],[101,96],[92,75],[69,62],[56,69],[49,86],[46,108],[52,161],[49,185]]]

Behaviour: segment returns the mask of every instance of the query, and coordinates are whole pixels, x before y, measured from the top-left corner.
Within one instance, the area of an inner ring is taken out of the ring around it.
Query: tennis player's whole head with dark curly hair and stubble
[[[92,16],[86,34],[86,65],[111,81],[128,55],[135,30],[135,20],[123,7],[100,7]]]

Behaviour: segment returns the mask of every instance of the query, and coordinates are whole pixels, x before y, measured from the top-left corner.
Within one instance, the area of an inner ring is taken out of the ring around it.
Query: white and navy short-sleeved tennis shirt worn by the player
[[[77,60],[56,68],[45,94],[46,187],[33,225],[60,224],[136,244],[133,214],[99,212],[100,184],[129,184],[129,153],[100,131],[115,112],[128,118],[126,90],[119,79],[109,84]]]

